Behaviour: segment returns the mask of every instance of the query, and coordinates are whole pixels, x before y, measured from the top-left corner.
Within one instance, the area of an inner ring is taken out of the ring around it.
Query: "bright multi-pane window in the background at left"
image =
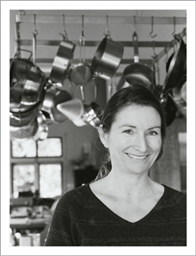
[[[62,195],[62,139],[11,143],[12,197],[31,196],[36,191],[40,197]]]

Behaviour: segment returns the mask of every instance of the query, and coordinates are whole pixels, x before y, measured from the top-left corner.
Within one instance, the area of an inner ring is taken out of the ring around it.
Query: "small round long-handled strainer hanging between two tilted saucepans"
[[[83,86],[93,79],[93,67],[85,63],[84,15],[82,15],[82,34],[79,37],[79,64],[72,65],[68,70],[68,80],[76,86]]]

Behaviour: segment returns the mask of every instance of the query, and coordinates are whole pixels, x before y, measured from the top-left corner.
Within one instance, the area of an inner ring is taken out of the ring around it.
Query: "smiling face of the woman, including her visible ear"
[[[130,105],[117,113],[101,140],[109,148],[112,170],[145,173],[160,152],[161,118],[152,107]]]

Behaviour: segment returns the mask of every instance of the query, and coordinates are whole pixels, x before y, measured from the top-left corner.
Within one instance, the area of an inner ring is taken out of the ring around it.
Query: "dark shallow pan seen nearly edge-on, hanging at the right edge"
[[[169,91],[177,86],[187,72],[187,47],[179,35],[174,35],[174,37],[178,40],[179,45],[172,58],[170,56],[168,73],[163,85],[164,91]]]

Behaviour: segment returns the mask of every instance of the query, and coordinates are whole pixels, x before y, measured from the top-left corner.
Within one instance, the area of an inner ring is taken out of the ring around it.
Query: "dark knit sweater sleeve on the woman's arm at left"
[[[71,246],[74,245],[74,223],[71,222],[71,202],[68,195],[63,195],[52,217],[50,229],[44,246]]]

